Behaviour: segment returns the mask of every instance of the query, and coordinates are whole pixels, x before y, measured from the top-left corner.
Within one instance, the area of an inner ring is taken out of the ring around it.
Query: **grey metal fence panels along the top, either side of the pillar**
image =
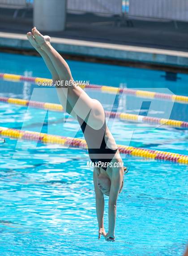
[[[28,8],[34,0],[0,0],[0,7]],[[67,12],[188,22],[188,0],[67,0]]]

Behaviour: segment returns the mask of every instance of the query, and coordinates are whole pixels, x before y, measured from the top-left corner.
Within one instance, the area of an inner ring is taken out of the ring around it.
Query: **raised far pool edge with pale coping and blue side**
[[[188,67],[188,52],[51,37],[61,53]],[[33,49],[26,35],[0,31],[0,47]]]

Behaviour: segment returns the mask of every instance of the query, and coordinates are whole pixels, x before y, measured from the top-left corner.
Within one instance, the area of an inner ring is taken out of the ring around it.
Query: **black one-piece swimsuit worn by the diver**
[[[77,120],[84,134],[91,161],[94,163],[98,163],[100,161],[101,163],[103,163],[103,165],[101,164],[101,167],[106,171],[107,166],[104,167],[104,164],[111,162],[118,149],[111,149],[107,147],[107,144],[105,142],[105,133],[107,129],[106,120],[104,120],[102,128],[100,128],[99,130],[95,130],[86,123],[89,115],[90,113],[85,118],[85,121],[78,116]]]

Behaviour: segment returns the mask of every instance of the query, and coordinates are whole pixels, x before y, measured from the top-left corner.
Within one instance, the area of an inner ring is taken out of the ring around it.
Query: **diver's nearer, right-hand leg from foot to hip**
[[[34,29],[34,31],[32,30],[32,32],[37,43],[51,59],[60,80],[73,81],[68,64],[65,62],[64,58],[62,58],[62,56],[51,46],[50,39],[46,39],[36,29]],[[79,86],[73,84],[71,86],[67,86],[66,88],[68,88],[68,102],[71,104],[76,114],[82,119],[85,119],[90,112],[88,124],[94,129],[100,129],[103,126],[105,118],[101,103],[99,103],[97,100],[91,99]]]

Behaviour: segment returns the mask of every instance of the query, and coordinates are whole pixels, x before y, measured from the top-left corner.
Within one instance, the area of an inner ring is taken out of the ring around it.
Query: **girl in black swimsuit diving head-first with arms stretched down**
[[[73,82],[70,68],[62,56],[51,46],[50,37],[43,36],[34,27],[27,33],[31,45],[42,56],[56,81]],[[62,84],[62,83],[61,83]],[[58,98],[63,108],[75,118],[84,133],[88,153],[94,162],[94,190],[98,219],[98,239],[103,235],[106,241],[115,241],[116,203],[123,187],[124,171],[122,159],[115,139],[105,121],[103,106],[96,99],[91,99],[79,86],[56,86]],[[119,163],[119,164],[118,164]],[[122,167],[117,167],[122,166]],[[104,229],[104,194],[108,201],[108,232]]]

